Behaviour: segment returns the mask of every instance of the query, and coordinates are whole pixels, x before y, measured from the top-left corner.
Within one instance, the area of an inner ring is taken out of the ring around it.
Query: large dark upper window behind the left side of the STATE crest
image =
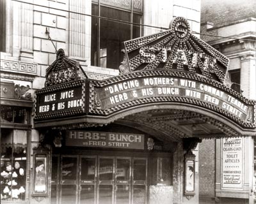
[[[93,0],[92,15],[103,17],[92,17],[93,66],[118,69],[124,59],[122,42],[141,36],[141,25],[136,24],[142,22],[142,3],[143,0]]]

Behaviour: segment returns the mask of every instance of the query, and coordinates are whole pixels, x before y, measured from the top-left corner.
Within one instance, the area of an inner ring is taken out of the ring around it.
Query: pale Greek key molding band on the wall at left
[[[24,75],[37,75],[37,65],[28,62],[22,61],[11,61],[6,59],[1,59],[1,71],[6,72],[13,72],[17,74],[24,74]]]

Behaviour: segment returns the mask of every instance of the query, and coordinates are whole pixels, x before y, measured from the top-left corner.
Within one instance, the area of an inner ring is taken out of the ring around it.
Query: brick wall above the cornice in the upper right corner
[[[256,17],[256,1],[252,0],[202,0],[201,23],[215,26],[230,24],[248,17]]]

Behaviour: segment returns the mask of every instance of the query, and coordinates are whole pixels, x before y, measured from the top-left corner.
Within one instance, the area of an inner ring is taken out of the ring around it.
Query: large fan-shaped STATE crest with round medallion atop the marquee
[[[223,83],[229,60],[191,34],[188,21],[176,17],[170,30],[124,42],[127,66],[120,73],[168,69],[196,73]]]

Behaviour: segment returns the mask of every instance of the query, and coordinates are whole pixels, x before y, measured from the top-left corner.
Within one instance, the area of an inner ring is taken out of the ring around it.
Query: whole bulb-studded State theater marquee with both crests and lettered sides
[[[125,41],[120,75],[105,80],[79,80],[79,66],[59,50],[47,69],[49,87],[36,92],[35,122],[65,117],[67,126],[76,119],[74,127],[90,127],[159,105],[216,115],[240,126],[237,135],[246,129],[250,135],[256,128],[256,103],[230,88],[228,63],[225,55],[193,36],[182,17],[174,18],[169,30]]]

